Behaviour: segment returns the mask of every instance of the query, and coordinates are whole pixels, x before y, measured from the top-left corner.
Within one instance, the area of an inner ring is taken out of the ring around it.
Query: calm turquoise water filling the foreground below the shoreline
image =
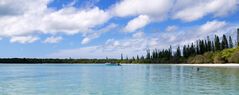
[[[0,65],[0,95],[239,95],[239,69]]]

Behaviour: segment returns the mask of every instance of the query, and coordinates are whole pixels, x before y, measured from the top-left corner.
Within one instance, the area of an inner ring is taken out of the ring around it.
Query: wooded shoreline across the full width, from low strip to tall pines
[[[2,64],[81,64],[81,63],[127,63],[127,64],[180,64],[180,63],[239,63],[239,29],[237,41],[233,43],[231,36],[215,35],[214,40],[209,36],[206,40],[197,40],[195,43],[180,46],[173,52],[168,49],[148,49],[146,55],[120,59],[56,59],[56,58],[0,58]]]

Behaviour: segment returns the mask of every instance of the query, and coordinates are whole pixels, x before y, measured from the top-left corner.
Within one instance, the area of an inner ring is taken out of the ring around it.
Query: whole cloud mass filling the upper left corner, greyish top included
[[[98,7],[78,9],[68,6],[53,10],[47,7],[51,1],[1,0],[0,37],[85,33],[111,18],[108,12]]]

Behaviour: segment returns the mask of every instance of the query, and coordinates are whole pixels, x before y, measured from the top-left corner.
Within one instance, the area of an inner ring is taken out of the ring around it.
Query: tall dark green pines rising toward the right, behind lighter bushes
[[[239,43],[239,29],[237,29],[237,42],[233,43],[231,36],[226,36],[225,34],[220,38],[215,35],[214,39],[197,40],[188,45],[178,46],[173,52],[172,46],[168,49],[154,49],[146,50],[145,57],[135,60],[134,57],[131,61],[135,63],[186,63],[190,57],[196,55],[203,55],[204,53],[211,52],[215,53],[225,49],[230,49],[237,47]],[[239,56],[238,56],[239,57]],[[145,58],[145,59],[144,59]],[[131,62],[127,61],[127,62]]]

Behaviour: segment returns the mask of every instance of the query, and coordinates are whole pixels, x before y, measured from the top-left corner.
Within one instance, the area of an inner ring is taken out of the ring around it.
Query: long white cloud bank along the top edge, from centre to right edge
[[[154,20],[166,17],[191,22],[207,15],[222,17],[235,12],[238,0],[121,0],[111,13],[119,17],[148,15]]]

